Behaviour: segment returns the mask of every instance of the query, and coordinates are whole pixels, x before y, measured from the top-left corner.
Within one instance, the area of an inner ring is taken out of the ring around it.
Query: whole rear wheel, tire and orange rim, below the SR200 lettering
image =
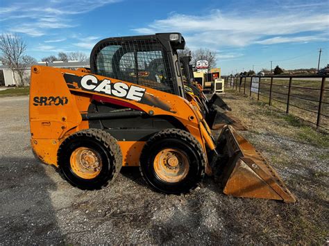
[[[58,166],[70,184],[87,190],[98,189],[113,182],[119,174],[121,149],[108,132],[82,130],[60,145]]]

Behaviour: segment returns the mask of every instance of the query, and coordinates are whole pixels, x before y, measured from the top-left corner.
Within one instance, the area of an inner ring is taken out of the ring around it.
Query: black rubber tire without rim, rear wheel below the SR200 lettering
[[[96,177],[80,177],[71,167],[71,155],[78,148],[89,148],[101,161],[101,168]],[[87,190],[99,189],[113,182],[122,166],[121,148],[117,140],[108,132],[98,129],[81,130],[67,137],[58,148],[57,158],[62,176],[70,184]]]

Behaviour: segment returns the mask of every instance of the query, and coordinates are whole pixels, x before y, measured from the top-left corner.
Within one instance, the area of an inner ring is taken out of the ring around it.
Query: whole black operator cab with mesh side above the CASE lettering
[[[180,33],[110,37],[90,55],[90,71],[185,98],[177,49],[185,48]]]

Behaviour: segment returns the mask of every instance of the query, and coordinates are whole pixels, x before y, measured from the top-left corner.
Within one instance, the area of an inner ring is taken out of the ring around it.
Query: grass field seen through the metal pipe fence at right
[[[321,107],[322,129],[329,129],[329,79],[327,78],[323,91],[323,100]],[[273,78],[271,87],[271,78],[260,79],[260,93],[251,92],[251,78],[242,78],[241,86],[239,79],[236,87],[237,91],[251,95],[253,98],[261,100],[269,104],[271,91],[271,105],[282,111],[287,110],[287,99],[289,91],[289,78]],[[257,89],[256,89],[257,91]],[[319,98],[321,91],[321,78],[301,80],[292,79],[290,97],[289,97],[289,113],[312,124],[317,123],[317,112],[319,110]]]

